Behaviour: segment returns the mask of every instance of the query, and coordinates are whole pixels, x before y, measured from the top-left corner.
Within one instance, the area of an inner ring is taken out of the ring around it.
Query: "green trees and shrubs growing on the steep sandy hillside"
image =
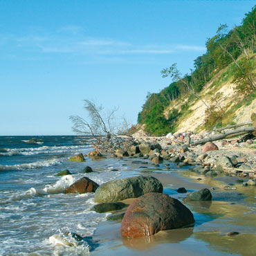
[[[231,63],[235,64],[232,82],[237,85],[236,90],[241,95],[256,90],[256,6],[245,15],[241,26],[228,30],[226,24],[220,25],[216,35],[207,39],[205,46],[206,53],[194,60],[194,70],[190,74],[181,75],[176,63],[161,71],[162,77],[170,77],[172,83],[159,93],[148,93],[143,109],[138,113],[138,123],[145,124],[150,133],[170,132],[174,122],[163,115],[170,102],[185,93],[192,93],[202,100],[199,92],[203,86]],[[208,116],[212,115],[212,122],[216,122],[214,120],[222,114],[221,109],[203,104],[208,109]],[[214,117],[215,114],[217,116]],[[179,116],[178,111],[176,116]]]

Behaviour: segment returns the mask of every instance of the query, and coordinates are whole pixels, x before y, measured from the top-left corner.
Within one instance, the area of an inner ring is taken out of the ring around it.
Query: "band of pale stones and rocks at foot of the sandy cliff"
[[[140,137],[136,139],[137,145],[127,152],[129,156],[143,154],[143,158],[156,164],[165,159],[178,167],[189,166],[190,170],[205,176],[217,176],[224,172],[229,176],[246,177],[250,180],[248,184],[255,185],[256,138],[217,140],[196,146],[188,144],[202,138],[202,135],[196,134],[174,134],[167,138]]]

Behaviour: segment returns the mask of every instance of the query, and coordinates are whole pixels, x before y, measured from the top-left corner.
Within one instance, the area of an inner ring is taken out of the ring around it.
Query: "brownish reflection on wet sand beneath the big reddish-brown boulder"
[[[122,238],[122,242],[128,248],[136,250],[148,250],[158,244],[179,243],[188,239],[193,233],[193,228],[179,228],[175,230],[160,231],[150,237],[139,237],[133,239]]]

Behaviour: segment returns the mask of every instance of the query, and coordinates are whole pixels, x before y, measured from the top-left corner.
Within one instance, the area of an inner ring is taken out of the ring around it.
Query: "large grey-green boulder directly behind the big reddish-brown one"
[[[149,192],[163,192],[163,185],[152,176],[137,176],[100,185],[95,191],[94,201],[98,203],[116,202],[136,198]]]

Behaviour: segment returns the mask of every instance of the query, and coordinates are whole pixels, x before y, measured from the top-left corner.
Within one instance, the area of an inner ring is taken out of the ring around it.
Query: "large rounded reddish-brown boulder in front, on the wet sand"
[[[167,194],[148,193],[135,199],[122,219],[121,236],[149,237],[160,230],[190,226],[192,212],[179,200]]]

